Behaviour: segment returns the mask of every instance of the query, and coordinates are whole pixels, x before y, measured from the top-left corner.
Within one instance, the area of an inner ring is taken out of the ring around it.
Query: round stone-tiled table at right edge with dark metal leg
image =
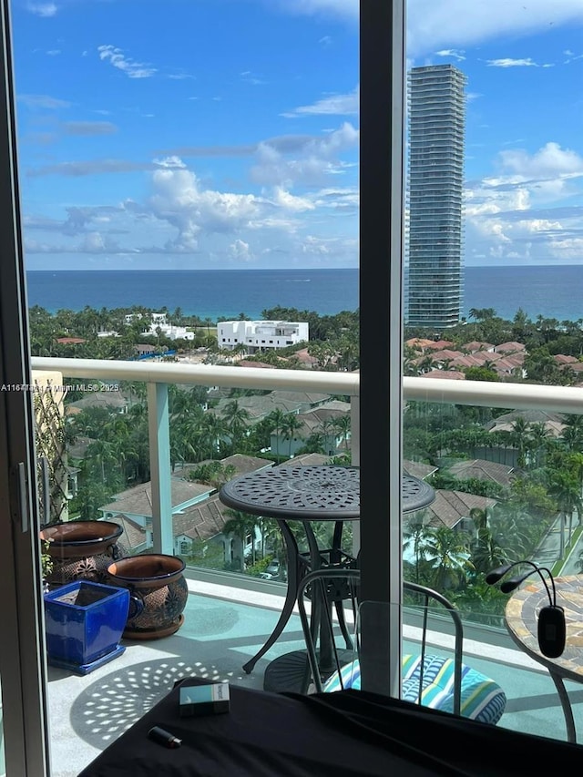
[[[531,659],[547,667],[555,683],[558,698],[565,715],[567,739],[577,741],[573,710],[563,680],[583,682],[583,577],[571,575],[556,578],[557,605],[565,609],[567,639],[562,656],[549,659],[538,649],[538,612],[548,604],[547,590],[542,582],[528,583],[520,588],[506,604],[506,628],[518,648]]]

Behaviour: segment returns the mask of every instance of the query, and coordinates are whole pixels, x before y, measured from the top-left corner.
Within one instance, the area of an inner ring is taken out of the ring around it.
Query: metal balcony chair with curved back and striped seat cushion
[[[329,588],[336,588],[336,578],[343,579],[344,587],[349,589],[346,600],[353,610],[353,619],[357,617],[360,572],[358,569],[320,569],[302,579],[298,594],[298,607],[302,620],[302,629],[308,652],[308,664],[312,682],[317,692],[332,692],[353,688],[360,690],[361,670],[357,658],[346,655],[345,650],[336,647],[332,615],[330,608],[322,608],[316,621],[306,612],[306,589],[314,598],[316,590],[325,598]],[[403,656],[402,699],[431,707],[435,710],[451,712],[475,721],[495,724],[500,720],[506,707],[504,690],[481,672],[472,669],[462,660],[464,630],[459,613],[441,594],[431,588],[415,583],[404,583],[404,590],[419,598],[421,610],[421,639],[419,653]],[[431,652],[427,644],[428,615],[430,605],[438,606],[451,619],[454,630],[454,657],[444,658]],[[390,605],[388,605],[390,607]],[[332,673],[322,670],[319,663],[316,642],[318,635],[322,639],[322,629],[327,629],[326,638],[332,645]],[[358,639],[356,640],[358,644]],[[353,654],[354,655],[354,654]]]

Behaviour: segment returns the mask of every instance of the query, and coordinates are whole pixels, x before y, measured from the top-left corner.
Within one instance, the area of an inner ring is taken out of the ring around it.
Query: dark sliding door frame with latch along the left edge
[[[0,5],[0,679],[5,771],[46,773],[42,591],[36,542],[26,293],[15,157],[8,0]],[[1,772],[1,768],[0,768]]]

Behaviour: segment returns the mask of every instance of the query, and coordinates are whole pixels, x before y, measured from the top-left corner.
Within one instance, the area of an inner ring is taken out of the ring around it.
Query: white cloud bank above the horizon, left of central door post
[[[275,185],[261,195],[235,193],[205,185],[178,156],[150,162],[149,180],[145,199],[69,208],[62,219],[26,214],[26,250],[77,253],[87,260],[139,254],[204,263],[214,257],[234,266],[243,262],[266,266],[267,261],[269,266],[289,266],[302,256],[318,266],[335,266],[338,261],[353,266],[357,261],[356,186],[299,194]],[[334,209],[345,209],[339,221],[342,236],[329,234],[325,217]]]

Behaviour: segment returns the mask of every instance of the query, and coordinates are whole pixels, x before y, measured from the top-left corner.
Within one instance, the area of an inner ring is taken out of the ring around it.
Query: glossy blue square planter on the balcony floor
[[[77,580],[45,595],[48,662],[87,674],[115,659],[126,626],[129,591]]]

